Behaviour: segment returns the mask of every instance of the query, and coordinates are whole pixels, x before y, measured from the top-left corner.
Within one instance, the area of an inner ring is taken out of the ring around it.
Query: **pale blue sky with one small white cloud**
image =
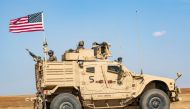
[[[44,32],[9,32],[11,19],[41,11]],[[123,57],[131,71],[174,79],[180,72],[177,85],[190,87],[189,0],[1,0],[0,95],[36,92],[25,49],[43,56],[44,36],[59,60],[80,40],[86,48],[107,41],[110,59]]]

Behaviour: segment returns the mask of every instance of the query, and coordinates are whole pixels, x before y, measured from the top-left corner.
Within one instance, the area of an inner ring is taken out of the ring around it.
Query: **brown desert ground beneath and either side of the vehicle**
[[[25,98],[32,95],[20,96],[0,96],[0,109],[33,109],[32,102],[25,101]],[[182,101],[172,103],[171,109],[190,109],[190,88],[182,89]],[[126,109],[138,109],[138,107],[129,107]]]

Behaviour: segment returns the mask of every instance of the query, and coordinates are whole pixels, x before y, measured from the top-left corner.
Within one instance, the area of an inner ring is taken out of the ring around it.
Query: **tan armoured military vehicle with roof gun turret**
[[[104,109],[139,105],[141,109],[169,109],[179,101],[180,89],[174,79],[136,74],[122,63],[111,61],[110,45],[81,41],[61,61],[49,61],[29,53],[36,61],[34,109]],[[47,43],[44,53],[48,53]],[[46,57],[46,56],[45,56]],[[178,78],[181,75],[178,74]]]

